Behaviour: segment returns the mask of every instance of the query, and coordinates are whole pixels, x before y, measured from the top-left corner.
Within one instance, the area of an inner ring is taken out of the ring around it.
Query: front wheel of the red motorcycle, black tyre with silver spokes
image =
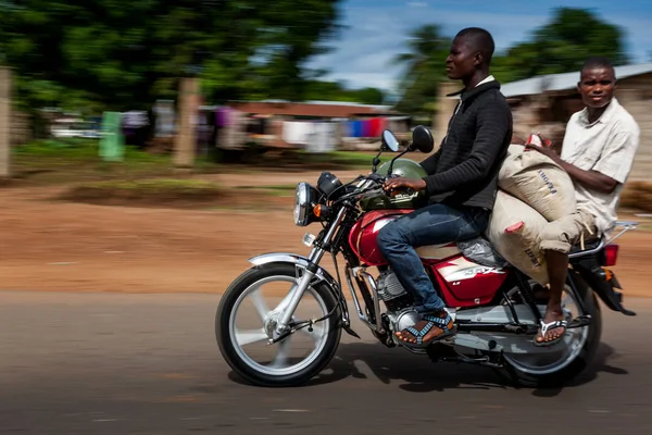
[[[303,302],[310,294],[315,299],[317,307],[321,308],[322,316],[334,309],[335,313],[329,319],[315,323],[313,326],[313,332],[319,331],[319,338],[323,338],[318,345],[315,345],[316,351],[313,351],[313,353],[311,353],[303,362],[285,369],[277,369],[273,366],[273,364],[259,364],[243,352],[241,346],[238,344],[238,331],[234,326],[234,318],[237,314],[237,310],[242,299],[248,293],[255,291],[256,286],[260,288],[261,283],[288,282],[288,284],[291,284],[296,278],[297,269],[296,265],[291,263],[272,263],[252,268],[242,273],[229,285],[217,307],[215,315],[215,337],[222,357],[234,372],[256,386],[288,387],[305,384],[328,365],[339,346],[341,337],[339,319],[341,318],[341,313],[338,301],[328,286],[323,282],[318,282],[311,284],[301,302]],[[288,285],[288,289],[289,288],[290,285]],[[261,313],[260,310],[259,314],[263,316],[263,313]],[[302,332],[306,333],[308,330],[298,331],[283,341],[271,345],[269,347],[278,348],[283,346],[284,343],[289,343],[294,335],[301,334]],[[260,337],[253,337],[253,339],[258,338],[259,341],[264,341],[268,338],[265,336],[264,328],[248,332],[247,334],[249,336],[260,334]],[[283,350],[279,349],[279,352]],[[287,358],[285,358],[285,360],[287,361]]]

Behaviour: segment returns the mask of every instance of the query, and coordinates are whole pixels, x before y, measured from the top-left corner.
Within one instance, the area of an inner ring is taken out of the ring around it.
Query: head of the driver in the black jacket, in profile
[[[460,80],[473,77],[477,70],[488,72],[494,48],[491,34],[484,28],[460,30],[446,60],[448,77]]]

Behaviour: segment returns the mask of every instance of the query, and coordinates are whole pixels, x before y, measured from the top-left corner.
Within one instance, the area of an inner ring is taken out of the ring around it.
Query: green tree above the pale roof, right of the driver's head
[[[507,83],[578,71],[592,55],[604,55],[615,65],[627,63],[623,32],[591,11],[557,8],[551,22],[535,29],[530,40],[497,57],[492,71],[499,80]]]

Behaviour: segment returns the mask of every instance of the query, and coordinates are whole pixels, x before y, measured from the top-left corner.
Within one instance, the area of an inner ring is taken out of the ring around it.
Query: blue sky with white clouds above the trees
[[[484,27],[492,34],[500,52],[528,39],[535,28],[550,20],[549,13],[526,12],[526,8],[510,8],[512,13],[469,12],[463,10],[459,0],[453,3],[460,10],[424,9],[422,4],[427,4],[423,1],[403,3],[409,8],[347,8],[349,28],[331,42],[335,50],[314,59],[311,66],[329,70],[327,78],[346,80],[352,87],[378,86],[391,90],[401,71],[392,59],[405,50],[408,33],[423,24],[439,23],[451,37],[464,27]],[[648,47],[652,47],[649,18],[614,15],[604,18],[626,32],[635,62],[647,60]]]

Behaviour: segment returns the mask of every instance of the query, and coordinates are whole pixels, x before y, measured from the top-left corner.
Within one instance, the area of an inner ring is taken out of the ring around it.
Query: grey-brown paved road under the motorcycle
[[[637,318],[606,313],[594,366],[555,390],[505,387],[482,368],[436,366],[375,344],[360,325],[363,340],[346,336],[313,385],[247,386],[217,351],[217,300],[0,293],[0,432],[652,433],[650,300],[628,301]]]

